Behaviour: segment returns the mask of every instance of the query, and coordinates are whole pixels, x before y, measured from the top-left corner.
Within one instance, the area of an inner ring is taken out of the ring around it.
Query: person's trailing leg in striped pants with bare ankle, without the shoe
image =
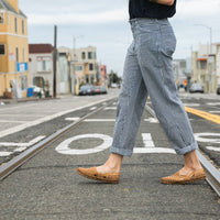
[[[140,21],[140,30],[138,57],[152,106],[172,146],[185,157],[180,174],[188,175],[201,165],[195,151],[198,145],[175,85],[172,55],[176,38],[167,21],[155,21],[154,25]]]

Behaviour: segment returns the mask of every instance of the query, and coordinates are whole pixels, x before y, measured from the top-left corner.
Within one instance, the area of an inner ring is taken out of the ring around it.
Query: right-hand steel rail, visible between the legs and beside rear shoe
[[[150,106],[145,106],[145,110],[154,118],[156,114]],[[197,155],[207,175],[206,182],[211,186],[211,188],[220,197],[220,172],[197,150]]]

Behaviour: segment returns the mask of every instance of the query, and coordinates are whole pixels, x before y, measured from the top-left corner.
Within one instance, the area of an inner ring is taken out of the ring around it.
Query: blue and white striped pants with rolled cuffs
[[[198,145],[175,85],[173,29],[167,19],[134,19],[130,23],[133,43],[125,58],[110,152],[132,155],[147,96],[176,153],[191,152]]]

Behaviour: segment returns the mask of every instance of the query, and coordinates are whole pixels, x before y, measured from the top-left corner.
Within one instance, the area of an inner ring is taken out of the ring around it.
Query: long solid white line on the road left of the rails
[[[112,97],[113,98],[113,97]],[[105,99],[105,100],[110,100],[112,98],[109,98],[109,99]],[[9,135],[9,134],[12,134],[12,133],[15,133],[15,132],[19,132],[19,131],[22,131],[26,128],[30,128],[30,127],[34,127],[36,124],[40,124],[40,123],[43,123],[45,121],[50,121],[52,119],[55,119],[57,117],[62,117],[64,114],[67,114],[67,113],[70,113],[73,111],[77,111],[77,110],[80,110],[80,109],[84,109],[84,108],[88,108],[88,107],[91,107],[94,105],[98,105],[102,101],[105,101],[103,99],[102,100],[99,100],[99,101],[96,101],[96,102],[92,102],[92,103],[89,103],[89,105],[86,105],[86,106],[82,106],[82,107],[79,107],[79,108],[75,108],[75,109],[69,109],[69,110],[66,110],[66,111],[62,111],[62,112],[58,112],[58,113],[55,113],[53,116],[47,116],[47,117],[44,117],[44,118],[41,118],[41,119],[37,119],[35,121],[30,121],[28,123],[24,123],[24,124],[20,124],[18,127],[14,127],[14,128],[11,128],[11,129],[8,129],[8,130],[4,130],[4,131],[1,131],[0,133],[0,138],[3,138],[6,135]],[[32,106],[35,106],[35,105],[32,105]],[[30,107],[30,106],[29,106]],[[16,108],[16,107],[15,107]],[[14,108],[14,109],[15,109]],[[23,107],[24,108],[24,107]],[[12,109],[12,108],[8,108],[8,109]],[[0,109],[1,110],[1,109]],[[4,108],[2,110],[6,110]]]

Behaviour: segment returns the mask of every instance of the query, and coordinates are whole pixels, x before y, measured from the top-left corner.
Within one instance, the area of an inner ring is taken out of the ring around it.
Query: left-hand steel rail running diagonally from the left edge
[[[114,98],[112,98],[114,99]],[[109,99],[109,102],[111,103],[111,100]],[[106,102],[105,100],[103,102]],[[74,129],[76,125],[81,123],[84,120],[89,118],[90,116],[101,111],[103,108],[109,106],[110,103],[103,105],[102,107],[89,112],[85,117],[78,119],[77,121],[74,121],[73,123],[66,125],[65,128],[61,129],[59,131],[55,132],[54,134],[51,134],[43,141],[34,144],[33,146],[29,147],[26,151],[21,153],[20,155],[15,156],[8,163],[0,166],[0,180],[4,179],[7,176],[9,176],[11,173],[13,173],[15,169],[18,169],[21,165],[23,165],[26,161],[35,156],[37,153],[40,153],[42,150],[46,148],[46,146],[54,141],[56,141],[58,138],[61,138],[64,133],[69,132],[72,129]]]

